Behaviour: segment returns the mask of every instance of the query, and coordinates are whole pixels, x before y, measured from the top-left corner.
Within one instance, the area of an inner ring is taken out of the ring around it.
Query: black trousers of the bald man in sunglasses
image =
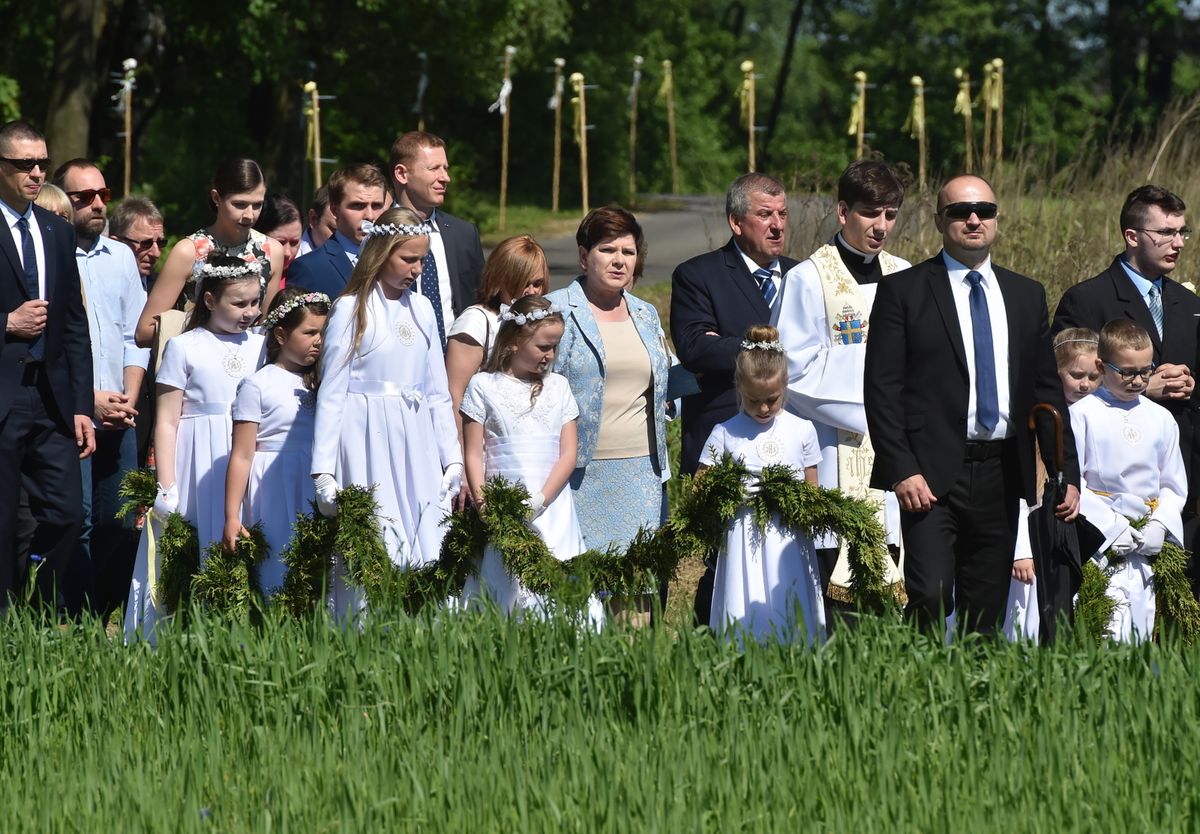
[[[995,634],[1004,620],[1016,545],[1020,466],[1015,444],[971,444],[950,491],[929,512],[900,512],[905,544],[905,617],[941,636],[956,612],[967,631]],[[984,460],[978,460],[986,455]]]

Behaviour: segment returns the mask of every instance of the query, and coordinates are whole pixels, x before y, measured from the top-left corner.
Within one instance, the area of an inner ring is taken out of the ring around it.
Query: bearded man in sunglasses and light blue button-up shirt
[[[100,169],[89,160],[71,160],[54,172],[54,184],[74,209],[74,257],[91,341],[96,426],[96,454],[80,464],[84,521],[62,598],[72,614],[84,607],[107,614],[120,604],[120,589],[128,588],[137,553],[133,518],[121,522],[116,510],[121,480],[138,466],[132,427],[150,352],[137,346],[134,330],[146,292],[131,248],[103,234],[112,192]]]

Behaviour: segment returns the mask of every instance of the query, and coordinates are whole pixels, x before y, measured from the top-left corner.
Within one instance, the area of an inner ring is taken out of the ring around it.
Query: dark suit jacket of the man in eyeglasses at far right
[[[1121,265],[1120,256],[1099,275],[1075,284],[1058,301],[1054,316],[1054,332],[1067,328],[1091,328],[1099,332],[1109,322],[1117,318],[1132,318],[1150,334],[1154,344],[1154,361],[1187,365],[1192,373],[1198,373],[1200,355],[1198,355],[1196,328],[1200,326],[1200,298],[1189,293],[1170,278],[1163,278],[1163,337],[1159,338],[1154,319],[1150,314],[1141,293],[1129,280]],[[1193,456],[1200,454],[1200,390],[1192,390],[1190,400],[1163,400],[1166,408],[1180,424],[1180,451],[1188,466],[1190,491],[1196,493],[1196,478],[1200,466]]]

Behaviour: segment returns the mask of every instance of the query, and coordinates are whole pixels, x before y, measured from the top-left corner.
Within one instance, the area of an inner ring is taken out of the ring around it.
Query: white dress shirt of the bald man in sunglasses
[[[990,432],[976,421],[976,372],[974,372],[974,330],[971,326],[971,282],[967,281],[968,266],[960,264],[944,251],[942,259],[950,274],[950,293],[954,295],[954,308],[959,314],[959,328],[962,331],[962,347],[967,356],[967,378],[970,396],[967,400],[967,439],[1000,440],[1012,434],[1012,402],[1008,379],[1008,314],[1004,308],[1004,294],[1000,292],[996,274],[991,271],[991,258],[974,269],[983,276],[979,286],[988,299],[988,317],[991,319],[991,349],[996,360],[996,400],[1000,404],[1000,419]]]

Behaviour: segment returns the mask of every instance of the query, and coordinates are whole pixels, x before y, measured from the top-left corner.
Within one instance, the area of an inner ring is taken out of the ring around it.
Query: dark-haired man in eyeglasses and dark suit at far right
[[[1200,396],[1194,377],[1200,299],[1168,277],[1192,234],[1186,210],[1177,194],[1160,186],[1132,191],[1121,206],[1124,252],[1106,270],[1063,293],[1054,330],[1091,328],[1099,332],[1109,322],[1127,318],[1150,334],[1156,366],[1144,394],[1166,408],[1180,426],[1180,451],[1190,485],[1183,514],[1188,521],[1200,498]]]

